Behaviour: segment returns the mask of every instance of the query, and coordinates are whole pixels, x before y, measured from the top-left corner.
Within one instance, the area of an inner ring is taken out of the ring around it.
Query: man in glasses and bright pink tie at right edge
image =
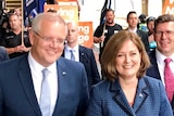
[[[165,59],[172,59],[170,67],[174,74],[174,16],[170,14],[160,15],[154,22],[154,40],[157,49],[149,56],[151,67],[147,70],[147,75],[160,79],[166,88],[164,67]],[[174,77],[172,77],[174,80]],[[174,83],[173,83],[174,85]],[[174,91],[174,88],[172,88]],[[173,92],[174,93],[174,92]],[[174,94],[172,95],[171,105],[174,112]]]

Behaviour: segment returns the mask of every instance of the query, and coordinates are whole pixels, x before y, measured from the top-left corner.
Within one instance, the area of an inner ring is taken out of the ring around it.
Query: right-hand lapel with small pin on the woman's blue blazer
[[[137,93],[133,105],[135,112],[137,112],[141,107],[148,94],[149,91],[146,80],[145,78],[140,78],[138,81]]]

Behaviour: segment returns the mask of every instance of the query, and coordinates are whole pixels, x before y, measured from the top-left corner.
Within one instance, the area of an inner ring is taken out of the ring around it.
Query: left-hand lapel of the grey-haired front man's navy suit
[[[36,115],[41,116],[41,112],[40,112],[40,108],[36,99],[35,90],[34,90],[27,55],[25,55],[24,57],[25,59],[23,59],[23,61],[20,64],[21,69],[18,70],[18,77],[24,88],[27,100],[29,101],[32,107],[36,112]]]

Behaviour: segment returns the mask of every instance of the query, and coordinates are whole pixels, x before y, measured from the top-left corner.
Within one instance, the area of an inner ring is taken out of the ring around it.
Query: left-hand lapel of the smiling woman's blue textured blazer
[[[119,83],[119,79],[115,79],[114,82],[111,82],[111,92],[115,92],[113,99],[115,102],[129,115],[135,116],[135,112],[129,106],[126,96],[124,95],[123,90],[121,89],[121,86]]]

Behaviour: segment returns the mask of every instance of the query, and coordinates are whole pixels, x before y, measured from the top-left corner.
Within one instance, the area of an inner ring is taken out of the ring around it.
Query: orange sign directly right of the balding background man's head
[[[78,43],[87,48],[92,48],[92,22],[78,22]]]

